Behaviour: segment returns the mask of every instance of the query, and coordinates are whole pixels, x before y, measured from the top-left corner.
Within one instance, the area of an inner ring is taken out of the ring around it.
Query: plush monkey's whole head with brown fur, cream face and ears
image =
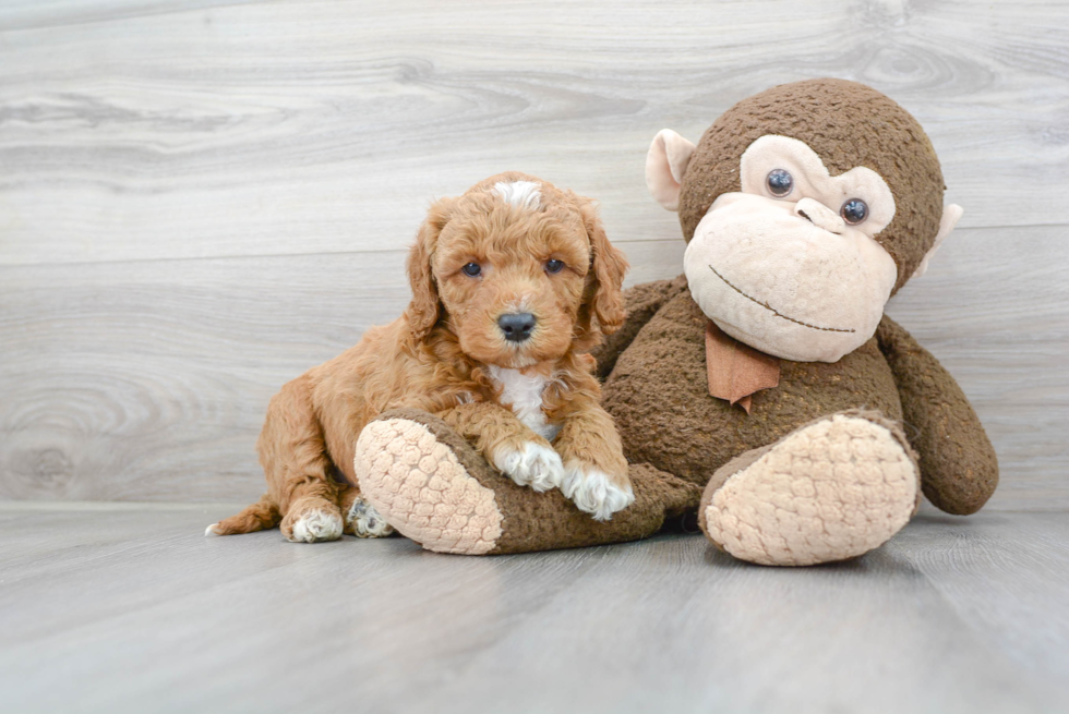
[[[756,101],[771,124],[761,133],[759,124],[745,122],[745,144],[723,118],[698,147],[661,132],[647,158],[647,182],[662,205],[681,210],[689,231],[684,266],[690,293],[711,320],[762,352],[836,362],[875,334],[888,299],[923,273],[961,209],[932,215],[932,194],[941,209],[942,179],[912,117],[863,85],[816,82],[824,95],[838,90],[846,99],[837,97],[831,112],[800,116],[782,107],[768,111],[769,93],[762,93],[729,110],[725,117]],[[812,101],[804,89],[813,85],[784,86],[801,87],[798,95]],[[783,101],[782,89],[770,90],[773,105]],[[866,124],[872,107],[852,116],[851,95],[854,105],[858,97],[862,104],[873,95],[882,99],[884,120],[888,106],[896,120],[904,114],[915,145],[884,156],[886,144]],[[791,135],[777,133],[783,124]],[[910,173],[898,170],[917,157],[923,161]]]

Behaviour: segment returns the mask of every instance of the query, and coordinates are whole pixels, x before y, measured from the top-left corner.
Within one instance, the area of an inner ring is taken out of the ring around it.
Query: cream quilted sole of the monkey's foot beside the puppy
[[[371,422],[360,433],[353,465],[367,500],[424,548],[483,555],[496,545],[502,516],[494,493],[425,425]]]

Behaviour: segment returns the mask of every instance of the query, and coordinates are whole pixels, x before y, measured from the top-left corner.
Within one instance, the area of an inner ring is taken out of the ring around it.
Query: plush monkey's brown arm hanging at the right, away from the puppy
[[[948,513],[976,512],[998,485],[998,460],[972,404],[950,373],[887,315],[876,338],[920,455],[924,495]]]

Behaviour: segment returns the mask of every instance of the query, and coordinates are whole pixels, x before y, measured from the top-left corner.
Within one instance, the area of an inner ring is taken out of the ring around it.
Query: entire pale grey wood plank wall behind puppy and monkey
[[[681,270],[646,148],[840,76],[926,126],[961,228],[890,313],[1069,506],[1069,3],[8,0],[0,498],[244,500],[285,380],[403,310],[428,203],[505,169]]]

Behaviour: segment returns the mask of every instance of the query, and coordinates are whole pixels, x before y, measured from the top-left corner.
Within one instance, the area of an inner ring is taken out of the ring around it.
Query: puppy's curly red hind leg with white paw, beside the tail
[[[336,541],[345,523],[338,484],[331,477],[323,428],[312,408],[307,376],[288,383],[267,407],[256,443],[267,494],[283,513],[283,535],[295,543]]]

